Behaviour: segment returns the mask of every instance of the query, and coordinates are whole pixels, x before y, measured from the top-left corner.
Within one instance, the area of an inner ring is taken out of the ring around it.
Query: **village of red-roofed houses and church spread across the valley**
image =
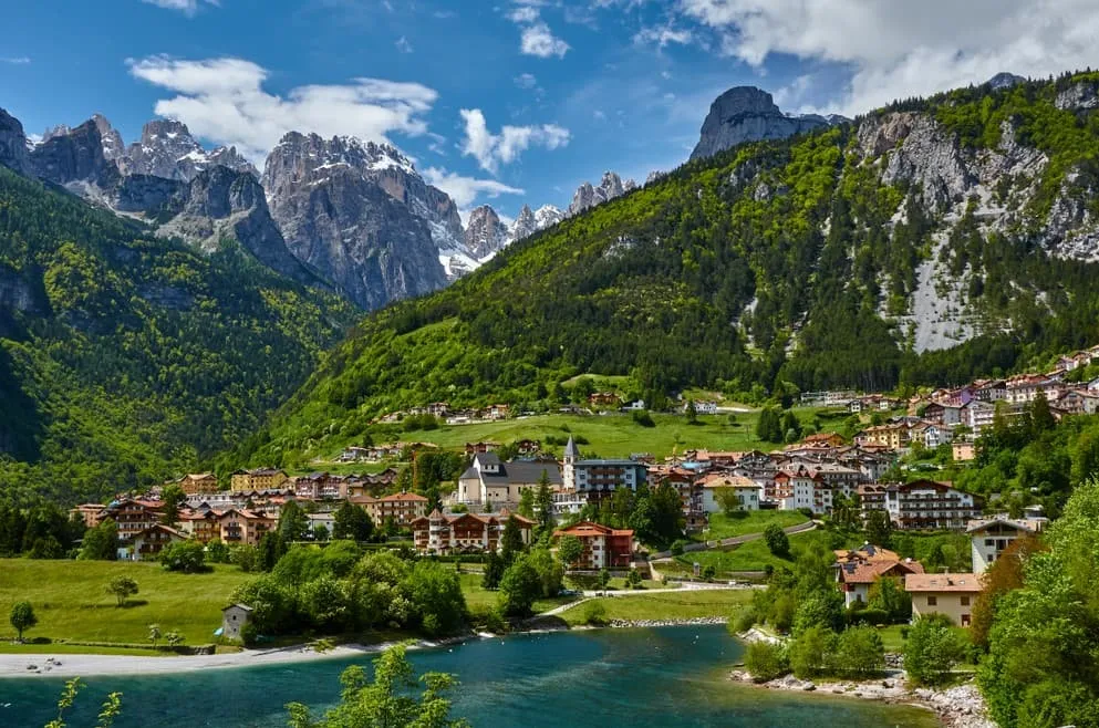
[[[652,544],[635,538],[633,530],[612,528],[590,516],[620,489],[636,493],[640,489],[670,486],[680,497],[683,535],[693,544],[688,550],[723,548],[719,541],[707,541],[705,537],[715,514],[730,512],[796,511],[819,520],[846,509],[856,512],[861,523],[872,518],[888,519],[890,528],[900,532],[966,534],[971,543],[970,572],[926,573],[920,562],[869,542],[858,549],[837,550],[834,572],[848,606],[865,602],[877,580],[893,576],[911,594],[914,614],[937,612],[967,626],[972,620],[970,607],[981,591],[981,574],[1015,539],[1043,530],[1047,519],[1041,507],[1030,506],[1010,518],[999,512],[999,503],[987,503],[948,481],[892,481],[887,476],[895,475],[899,460],[913,447],[948,447],[955,462],[973,460],[976,439],[997,417],[1009,422],[1022,416],[1038,397],[1046,398],[1058,419],[1093,414],[1099,409],[1099,379],[1070,382],[1071,373],[1092,358],[1099,358],[1099,347],[1062,357],[1060,366],[1047,374],[982,379],[904,401],[882,394],[802,396],[803,404],[842,407],[854,415],[869,414],[870,423],[879,423],[859,429],[850,441],[837,433],[823,431],[770,451],[684,449],[660,461],[647,454],[587,458],[572,437],[560,458],[543,453],[541,443],[535,439],[516,440],[506,447],[493,441],[467,443],[462,454],[468,467],[434,503],[425,495],[402,489],[400,483],[402,469],[415,468],[421,454],[437,450],[437,446],[349,446],[338,462],[384,464],[384,469],[362,475],[318,471],[301,476],[290,476],[278,468],[243,469],[231,475],[228,490],[219,488],[214,474],[187,475],[165,485],[178,487],[184,495],[170,523],[165,522],[165,503],[160,500],[164,488],[121,495],[110,503],[84,503],[72,512],[90,528],[112,519],[118,528],[121,560],[156,560],[168,544],[185,540],[258,545],[265,534],[277,530],[289,502],[302,507],[309,538],[318,542],[328,540],[335,511],[350,503],[361,508],[383,538],[393,539],[394,545],[411,548],[424,557],[484,555],[500,549],[509,521],[518,524],[523,543],[531,542],[536,520],[529,503],[541,491],[558,523],[553,539],[572,537],[582,543],[579,555],[569,564],[570,571],[579,574],[609,570],[621,575],[635,569],[656,573],[657,557],[667,554],[655,553]],[[623,404],[612,393],[594,393],[590,398],[594,410],[635,409],[643,408],[643,404]],[[712,402],[688,406],[699,414],[718,409]],[[416,414],[457,417],[458,423],[470,416],[511,416],[507,405],[453,414],[445,403],[400,416]],[[510,455],[508,459],[498,454],[505,449]],[[521,513],[525,500],[526,516]],[[588,518],[581,518],[583,514]]]

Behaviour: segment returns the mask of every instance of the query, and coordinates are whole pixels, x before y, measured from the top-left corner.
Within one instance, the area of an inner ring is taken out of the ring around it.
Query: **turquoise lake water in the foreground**
[[[926,711],[831,696],[738,686],[725,679],[742,647],[719,626],[600,630],[485,639],[409,653],[416,667],[457,674],[454,715],[474,726],[734,726],[753,728],[929,728]],[[61,659],[64,659],[62,656]],[[340,672],[367,659],[206,669],[151,677],[90,677],[69,725],[94,724],[121,690],[117,728],[286,725],[283,705],[314,708],[339,698]],[[42,726],[63,680],[0,679],[0,726]]]

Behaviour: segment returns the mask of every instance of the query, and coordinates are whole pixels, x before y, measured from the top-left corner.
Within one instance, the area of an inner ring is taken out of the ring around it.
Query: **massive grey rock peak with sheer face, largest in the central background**
[[[263,169],[290,251],[365,309],[446,284],[428,222],[372,174],[400,162],[375,152],[359,139],[290,133]]]

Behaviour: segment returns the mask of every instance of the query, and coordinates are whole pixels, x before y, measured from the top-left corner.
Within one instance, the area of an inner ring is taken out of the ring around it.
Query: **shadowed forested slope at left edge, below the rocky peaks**
[[[0,167],[0,496],[100,498],[253,431],[354,312]]]

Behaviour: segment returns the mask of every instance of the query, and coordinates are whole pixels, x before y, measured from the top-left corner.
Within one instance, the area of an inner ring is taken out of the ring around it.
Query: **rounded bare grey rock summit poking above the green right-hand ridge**
[[[846,121],[832,117],[836,122]],[[785,139],[795,134],[828,126],[819,115],[787,116],[771,95],[755,86],[736,86],[718,96],[702,124],[702,138],[691,153],[692,159],[709,157],[745,142]]]

